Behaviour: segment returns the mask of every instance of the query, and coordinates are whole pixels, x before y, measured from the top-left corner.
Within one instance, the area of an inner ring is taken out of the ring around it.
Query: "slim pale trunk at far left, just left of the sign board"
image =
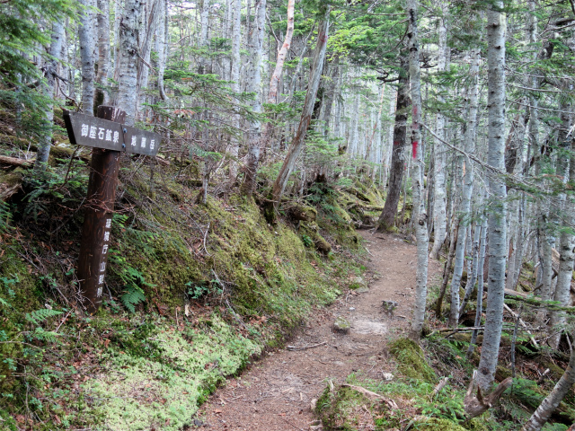
[[[52,100],[54,97],[54,86],[56,84],[56,71],[57,63],[60,55],[62,54],[62,43],[64,40],[64,25],[55,21],[52,24],[52,41],[50,43],[49,55],[50,58],[45,65],[46,84],[42,91],[44,95]],[[34,162],[34,169],[37,171],[44,171],[48,157],[50,155],[50,146],[52,145],[52,127],[54,123],[54,106],[52,103],[46,107],[44,113],[44,122],[46,126],[46,135],[40,138],[38,143],[38,152],[36,154],[36,162]]]

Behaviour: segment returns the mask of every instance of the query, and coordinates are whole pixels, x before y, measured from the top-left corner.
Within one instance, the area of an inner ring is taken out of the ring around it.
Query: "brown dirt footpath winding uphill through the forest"
[[[363,231],[369,261],[368,289],[349,291],[328,308],[315,309],[307,326],[289,346],[257,361],[241,376],[219,388],[199,409],[195,424],[213,430],[284,431],[319,429],[311,401],[326,380],[344,383],[360,372],[381,379],[394,373],[386,344],[411,321],[416,273],[416,247],[402,236]],[[440,265],[429,259],[429,285],[440,277]],[[394,301],[388,315],[382,301]],[[342,316],[350,323],[348,334],[334,332]]]

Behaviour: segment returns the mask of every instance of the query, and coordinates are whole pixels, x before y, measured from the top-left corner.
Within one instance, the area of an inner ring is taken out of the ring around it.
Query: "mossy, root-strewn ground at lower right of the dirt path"
[[[374,380],[356,373],[349,375],[347,383],[394,400],[397,409],[390,408],[389,404],[380,400],[369,399],[348,386],[328,384],[315,407],[323,427],[347,431],[521,429],[553,386],[537,385],[532,380],[517,376],[496,406],[481,417],[468,420],[464,412],[464,395],[474,359],[471,363],[465,359],[466,347],[461,341],[440,337],[423,339],[420,345],[410,339],[391,340],[387,345],[395,365],[391,381]],[[434,395],[441,376],[447,376],[448,382]],[[571,397],[545,424],[545,431],[566,431],[567,424],[575,420]]]

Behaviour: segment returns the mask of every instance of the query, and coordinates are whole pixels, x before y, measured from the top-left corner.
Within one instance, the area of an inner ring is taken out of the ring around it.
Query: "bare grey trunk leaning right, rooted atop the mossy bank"
[[[273,201],[275,207],[279,206],[279,199],[286,189],[286,184],[288,184],[289,176],[291,175],[291,172],[294,171],[297,158],[304,149],[305,135],[307,134],[307,129],[309,128],[309,123],[314,112],[315,96],[317,95],[317,89],[319,88],[320,79],[322,77],[323,61],[325,60],[325,50],[327,48],[330,24],[331,7],[323,7],[323,17],[322,21],[319,22],[318,25],[317,42],[315,44],[309,84],[307,86],[307,92],[305,93],[302,117],[299,120],[296,136],[294,136],[294,140],[292,141],[291,145],[289,145],[288,154],[286,155],[286,159],[284,160],[284,163],[281,165],[279,170],[278,178],[273,184]]]

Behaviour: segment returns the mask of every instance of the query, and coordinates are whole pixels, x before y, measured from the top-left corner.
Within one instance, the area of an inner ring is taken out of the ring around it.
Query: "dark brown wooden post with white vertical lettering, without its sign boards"
[[[126,112],[99,106],[98,118],[122,123]],[[119,151],[93,148],[78,278],[84,307],[93,314],[102,304],[102,288],[110,245],[111,217],[118,184]]]

